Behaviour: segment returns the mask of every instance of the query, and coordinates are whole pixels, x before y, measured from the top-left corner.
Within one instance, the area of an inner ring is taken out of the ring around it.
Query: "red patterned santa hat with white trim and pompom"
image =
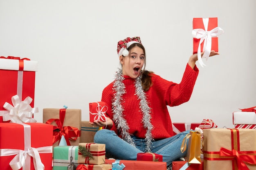
[[[129,54],[127,48],[134,43],[141,44],[140,37],[132,37],[132,38],[127,37],[126,39],[118,41],[117,43],[118,57],[121,55],[127,56]]]

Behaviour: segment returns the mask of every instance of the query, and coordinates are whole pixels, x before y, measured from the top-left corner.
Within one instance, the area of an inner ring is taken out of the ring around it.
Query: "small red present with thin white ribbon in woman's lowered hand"
[[[105,102],[91,102],[89,103],[90,109],[90,122],[94,122],[95,120],[106,121],[105,113],[108,110]]]

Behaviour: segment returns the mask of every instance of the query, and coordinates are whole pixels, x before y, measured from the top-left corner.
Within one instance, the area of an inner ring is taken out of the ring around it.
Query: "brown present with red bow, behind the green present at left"
[[[43,109],[43,123],[54,125],[53,147],[65,132],[68,146],[78,146],[81,135],[81,109]]]

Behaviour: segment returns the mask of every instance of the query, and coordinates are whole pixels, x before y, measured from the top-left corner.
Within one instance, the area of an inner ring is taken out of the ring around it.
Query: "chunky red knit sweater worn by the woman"
[[[153,125],[153,139],[164,139],[173,136],[173,128],[171,118],[167,109],[168,106],[177,106],[189,101],[196,78],[198,76],[198,68],[195,66],[193,70],[188,64],[182,81],[180,84],[167,81],[156,74],[152,74],[152,87],[146,92],[148,105],[151,108],[151,123]],[[145,138],[146,129],[141,122],[142,114],[139,109],[139,100],[135,95],[135,79],[124,76],[124,85],[126,93],[123,95],[124,119],[129,126],[129,133],[140,138]],[[102,92],[101,101],[106,102],[108,111],[106,116],[113,120],[112,99],[113,99],[113,83],[110,83]],[[121,137],[117,131],[115,124],[111,127]]]

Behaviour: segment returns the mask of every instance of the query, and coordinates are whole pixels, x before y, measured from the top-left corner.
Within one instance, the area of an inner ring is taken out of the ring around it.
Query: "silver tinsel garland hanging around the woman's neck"
[[[114,98],[112,100],[112,107],[113,107],[113,113],[114,113],[113,120],[117,125],[117,129],[121,131],[121,136],[123,137],[123,139],[129,144],[131,144],[132,146],[135,146],[134,140],[129,134],[130,128],[127,124],[127,121],[124,119],[124,115],[123,115],[124,108],[122,106],[122,103],[124,102],[124,99],[122,98],[122,96],[123,94],[126,93],[125,85],[123,83],[124,79],[125,78],[122,75],[122,70],[118,68],[117,72],[115,73],[115,81],[113,85],[113,90],[114,90]],[[153,140],[151,131],[153,129],[153,125],[151,124],[150,107],[148,106],[146,94],[141,85],[141,74],[135,79],[135,94],[139,99],[139,108],[141,110],[141,113],[143,114],[141,121],[143,122],[143,126],[146,129],[145,152],[151,152],[151,144]]]

